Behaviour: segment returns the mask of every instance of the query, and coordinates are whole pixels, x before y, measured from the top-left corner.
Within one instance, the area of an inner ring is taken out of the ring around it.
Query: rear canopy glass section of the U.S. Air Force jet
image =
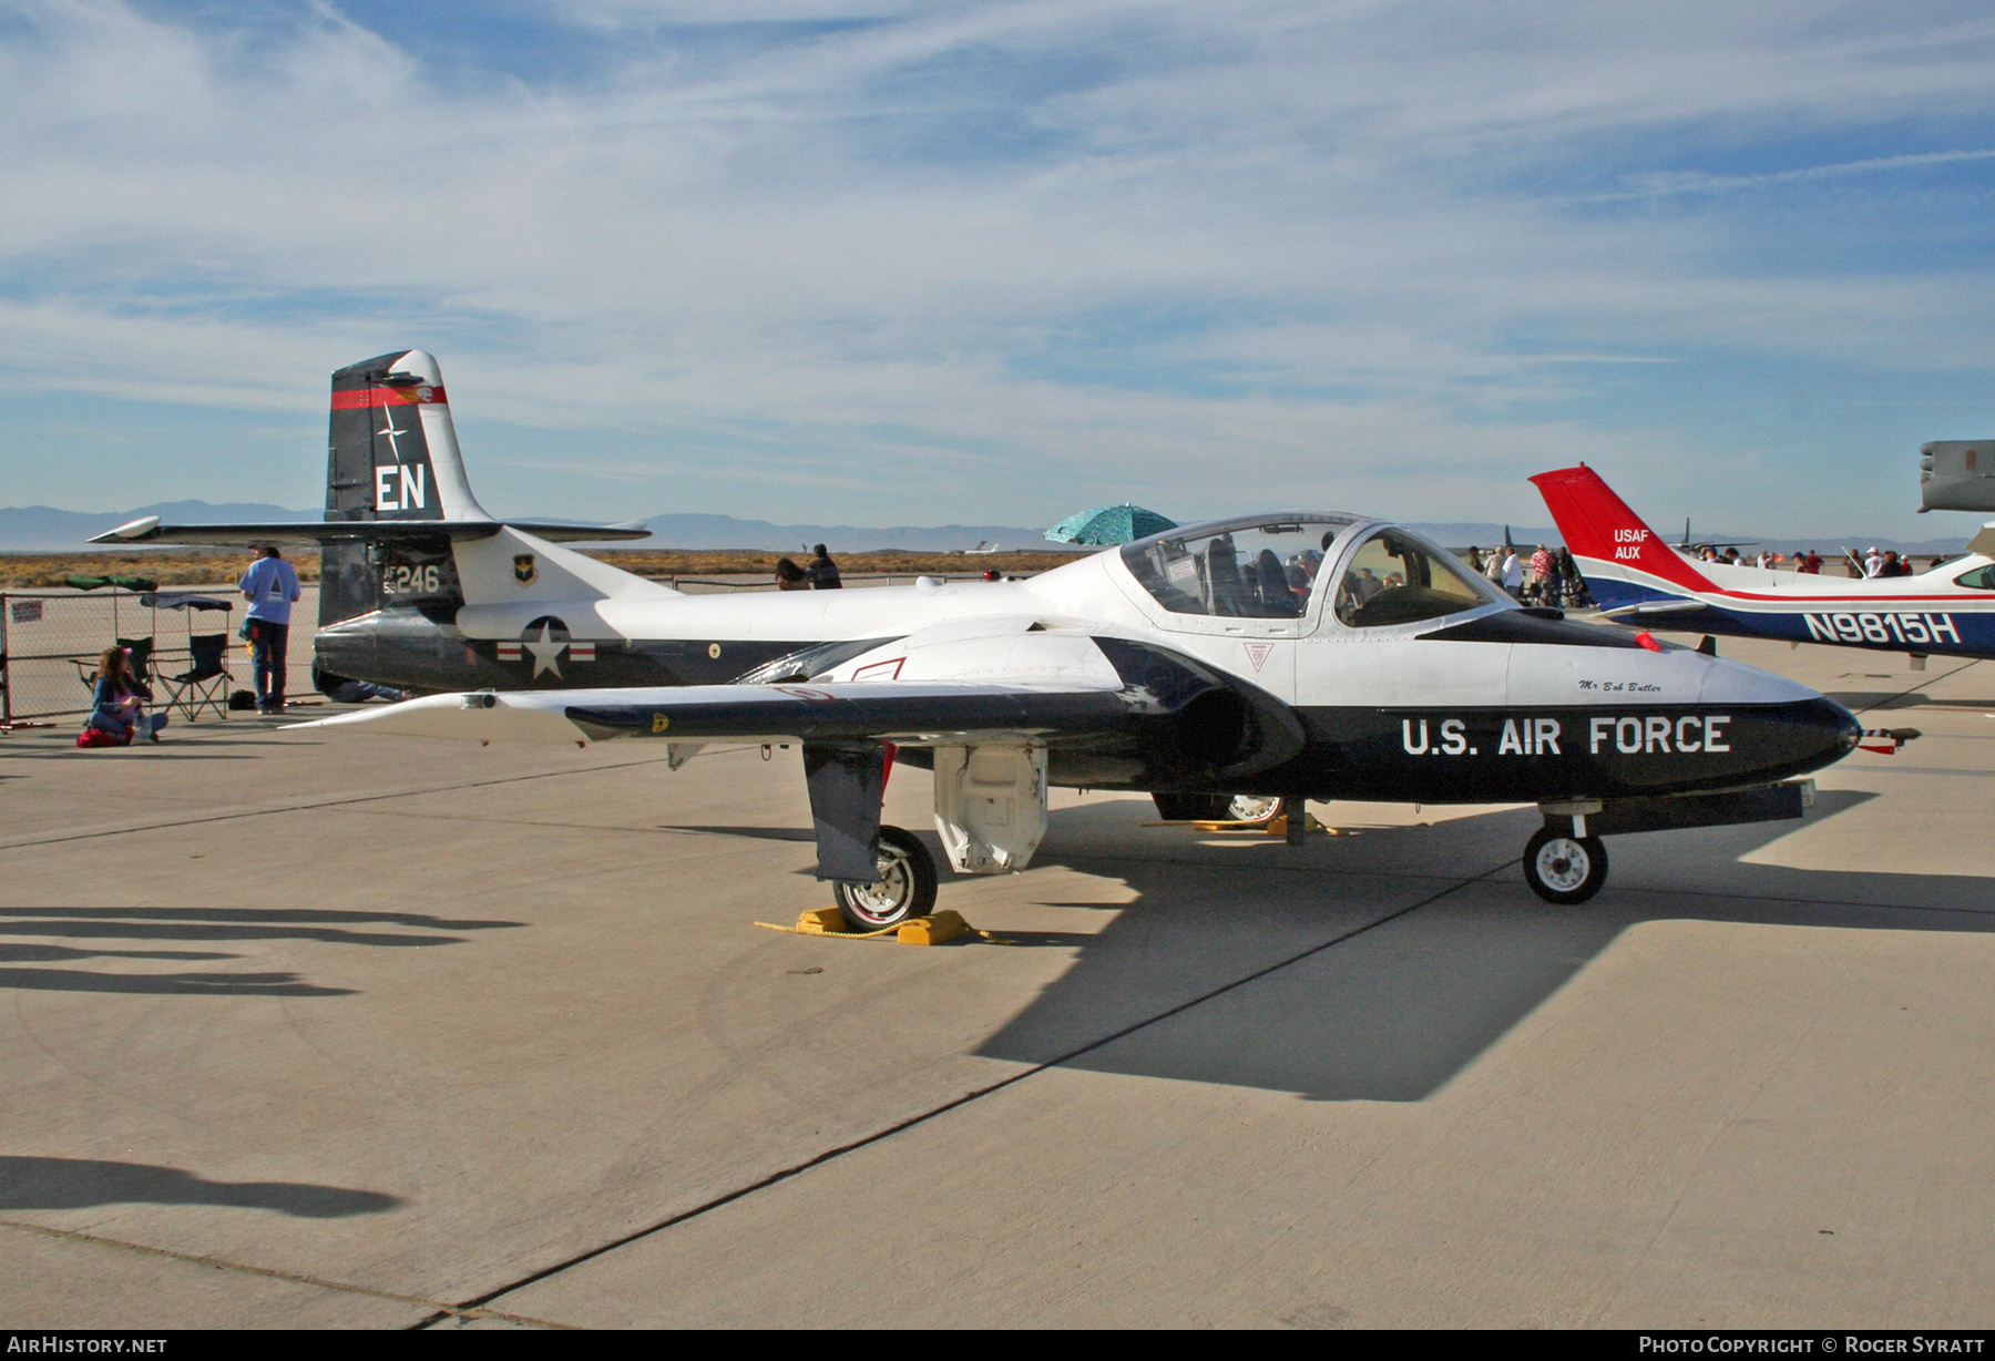
[[[1173,615],[1301,619],[1331,543],[1355,521],[1241,521],[1123,547],[1123,563]]]

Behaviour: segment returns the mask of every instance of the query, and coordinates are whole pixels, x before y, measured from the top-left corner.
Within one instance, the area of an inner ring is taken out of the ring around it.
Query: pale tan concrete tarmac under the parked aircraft
[[[1925,736],[1580,908],[1059,792],[926,950],[754,926],[796,752],[4,736],[0,1319],[1987,1325],[1995,663],[1720,647]]]

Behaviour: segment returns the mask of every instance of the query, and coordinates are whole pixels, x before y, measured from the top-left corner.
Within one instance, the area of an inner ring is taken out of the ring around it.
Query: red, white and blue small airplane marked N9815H
[[[1672,549],[1584,463],[1530,481],[1608,619],[1909,653],[1917,667],[1933,653],[1995,657],[1995,529],[1917,577],[1821,577]]]

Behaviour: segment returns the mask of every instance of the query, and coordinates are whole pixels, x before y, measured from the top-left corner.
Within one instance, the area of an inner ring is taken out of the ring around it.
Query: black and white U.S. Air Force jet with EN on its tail
[[[140,521],[112,541],[327,545],[335,675],[423,690],[325,730],[479,742],[800,744],[860,928],[926,914],[936,866],[882,826],[892,762],[934,772],[962,874],[1027,866],[1047,786],[1235,800],[1532,802],[1524,878],[1606,880],[1602,836],[1797,818],[1859,740],[1839,704],[1648,635],[1520,609],[1444,549],[1349,513],[1169,529],[1029,581],[680,595],[503,523],[471,495],[435,359],[333,375],[327,519]],[[1291,816],[1291,840],[1307,818]]]

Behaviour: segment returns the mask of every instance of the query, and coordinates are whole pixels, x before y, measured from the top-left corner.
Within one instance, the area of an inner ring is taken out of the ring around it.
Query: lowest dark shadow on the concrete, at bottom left
[[[309,1181],[207,1181],[180,1167],[94,1157],[0,1155],[0,1211],[88,1209],[118,1203],[233,1205],[275,1209],[301,1219],[343,1219],[395,1209],[401,1199],[381,1191]]]

